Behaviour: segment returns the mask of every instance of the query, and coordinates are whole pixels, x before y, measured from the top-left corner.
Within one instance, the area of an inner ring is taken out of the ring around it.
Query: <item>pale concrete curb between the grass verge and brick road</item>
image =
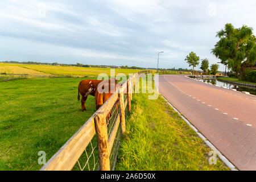
[[[156,85],[156,89],[158,90],[158,93],[160,94],[159,92],[159,89],[158,89],[158,85],[156,84],[155,82],[155,79],[154,79],[154,83]],[[210,141],[204,137],[203,134],[201,134],[199,132],[199,130],[196,129],[195,126],[192,125],[191,122],[188,121],[188,119],[186,119],[180,112],[179,110],[177,110],[168,100],[166,100],[166,98],[164,98],[164,96],[162,94],[160,94],[160,96],[172,107],[172,109],[174,109],[179,115],[180,117],[189,125],[189,127],[192,128],[192,130],[194,130],[196,132],[196,134],[204,140],[204,142],[207,144],[208,147],[210,147],[212,150],[215,150],[216,151],[216,154],[218,155],[218,158],[220,158],[222,160],[222,162],[224,162],[224,164],[226,164],[226,166],[228,166],[230,168],[230,170],[232,171],[239,171],[224,155],[221,154],[221,152],[212,144],[210,143]]]

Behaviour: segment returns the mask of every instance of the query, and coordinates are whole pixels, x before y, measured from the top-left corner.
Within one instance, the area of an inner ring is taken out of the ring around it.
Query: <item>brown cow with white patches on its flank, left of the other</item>
[[[87,100],[87,97],[89,95],[91,96],[95,96],[98,84],[100,84],[100,82],[102,82],[103,80],[82,80],[79,83],[78,86],[78,96],[77,96],[77,100],[80,100],[80,94],[82,96],[81,99],[81,109],[82,111],[86,110],[85,108],[85,101]],[[117,82],[117,80],[115,80],[115,82]]]

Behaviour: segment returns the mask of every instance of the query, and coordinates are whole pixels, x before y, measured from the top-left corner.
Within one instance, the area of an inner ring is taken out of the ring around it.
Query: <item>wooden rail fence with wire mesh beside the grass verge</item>
[[[123,83],[40,170],[114,170],[134,86],[149,72],[135,73]]]

